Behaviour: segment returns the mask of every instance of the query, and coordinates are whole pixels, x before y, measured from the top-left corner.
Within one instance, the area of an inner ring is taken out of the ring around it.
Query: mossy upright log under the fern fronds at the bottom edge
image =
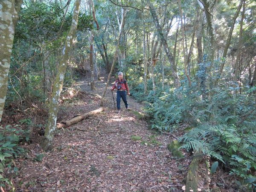
[[[195,153],[189,165],[188,175],[186,176],[186,192],[198,192],[198,164],[203,156]]]

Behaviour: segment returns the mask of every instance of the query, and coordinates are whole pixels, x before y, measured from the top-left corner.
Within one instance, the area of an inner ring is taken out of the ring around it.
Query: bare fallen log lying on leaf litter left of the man
[[[69,127],[71,125],[74,125],[86,118],[88,118],[89,116],[93,116],[99,112],[102,112],[103,111],[103,108],[99,108],[99,109],[96,109],[94,111],[90,111],[88,113],[85,113],[83,115],[80,115],[80,116],[76,116],[74,117],[73,119],[70,119],[70,120],[67,120],[67,121],[61,121],[59,123],[56,123],[56,128],[57,129],[61,129],[61,128],[66,128],[66,127]]]

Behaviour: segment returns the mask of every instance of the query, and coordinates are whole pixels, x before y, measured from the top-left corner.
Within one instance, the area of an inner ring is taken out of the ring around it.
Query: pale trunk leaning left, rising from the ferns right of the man
[[[178,87],[180,87],[180,79],[179,79],[179,76],[177,74],[176,67],[174,66],[174,58],[173,58],[172,53],[170,52],[170,49],[167,45],[166,39],[163,36],[163,32],[162,32],[162,29],[160,27],[160,24],[159,24],[159,21],[158,21],[158,18],[157,18],[157,14],[155,12],[154,7],[152,5],[150,5],[149,8],[150,8],[150,12],[151,12],[151,15],[153,17],[155,26],[157,28],[157,35],[158,35],[158,37],[160,38],[160,40],[163,44],[164,50],[165,50],[166,55],[167,55],[167,57],[169,59],[169,62],[170,62],[170,67],[171,67],[171,70],[172,70],[172,76],[173,76],[173,79],[174,79],[174,86],[175,86],[175,88],[178,88]]]

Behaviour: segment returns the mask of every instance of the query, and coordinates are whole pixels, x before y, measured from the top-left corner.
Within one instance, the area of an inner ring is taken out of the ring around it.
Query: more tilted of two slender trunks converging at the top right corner
[[[222,72],[223,72],[223,68],[224,68],[224,64],[225,64],[225,60],[226,60],[226,56],[227,56],[227,50],[230,47],[230,41],[231,41],[232,33],[233,33],[233,30],[234,30],[234,26],[235,26],[235,23],[236,23],[236,18],[238,17],[238,15],[240,13],[243,1],[244,0],[240,0],[239,6],[236,10],[235,15],[233,16],[233,19],[232,19],[232,25],[230,27],[230,31],[229,31],[228,36],[227,36],[226,45],[224,47],[224,51],[223,51],[223,55],[222,55],[222,57],[224,58],[224,61],[221,63],[221,67],[220,67],[220,70],[219,70],[219,76],[221,76]]]

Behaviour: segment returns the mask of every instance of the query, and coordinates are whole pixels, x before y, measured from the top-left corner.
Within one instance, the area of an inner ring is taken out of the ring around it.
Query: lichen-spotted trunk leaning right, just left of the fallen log
[[[56,79],[53,84],[53,90],[52,90],[52,97],[49,104],[49,113],[48,113],[48,122],[47,127],[45,129],[45,135],[41,143],[41,147],[43,150],[51,150],[53,145],[53,137],[55,134],[55,126],[57,121],[57,115],[58,115],[58,100],[61,94],[63,81],[64,81],[64,74],[67,69],[67,61],[69,57],[69,51],[72,46],[73,38],[76,35],[76,27],[78,23],[78,15],[79,15],[79,6],[80,6],[81,0],[76,0],[74,5],[74,11],[73,11],[73,18],[72,23],[70,27],[70,31],[67,35],[67,39],[62,51],[62,58],[58,67],[58,73],[56,76]]]

